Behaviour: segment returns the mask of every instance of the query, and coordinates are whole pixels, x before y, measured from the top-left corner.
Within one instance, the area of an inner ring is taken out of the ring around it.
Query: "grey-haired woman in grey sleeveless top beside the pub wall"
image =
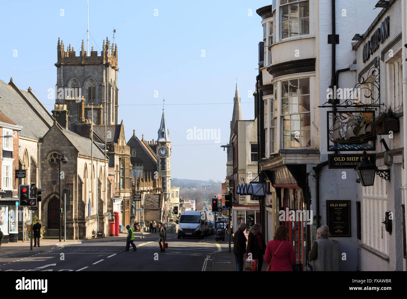
[[[328,225],[317,229],[317,240],[312,244],[309,255],[313,271],[333,271],[333,242],[328,236]]]

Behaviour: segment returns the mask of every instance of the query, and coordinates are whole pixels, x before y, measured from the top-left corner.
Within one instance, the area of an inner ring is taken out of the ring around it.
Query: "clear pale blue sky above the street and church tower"
[[[133,129],[139,138],[144,133],[147,140],[157,139],[165,98],[172,177],[224,181],[226,151],[220,146],[229,141],[236,77],[243,119],[253,119],[254,98],[248,95],[255,88],[262,40],[256,9],[269,4],[271,0],[89,1],[89,48],[100,51],[116,28],[119,122],[124,121],[126,140]],[[51,111],[55,100],[48,99],[48,89],[57,80],[58,37],[79,55],[81,40],[86,43],[86,14],[86,0],[0,2],[0,79],[8,83],[12,76],[23,90],[31,86]],[[188,140],[187,130],[194,127],[219,130],[220,143]]]

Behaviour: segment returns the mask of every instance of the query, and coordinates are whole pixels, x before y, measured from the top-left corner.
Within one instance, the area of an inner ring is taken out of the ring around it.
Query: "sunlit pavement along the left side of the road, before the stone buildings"
[[[146,236],[153,235],[151,233],[141,232],[134,233],[135,238],[146,238]],[[58,239],[40,239],[39,247],[34,247],[30,250],[30,241],[18,241],[9,242],[7,244],[1,244],[0,247],[0,258],[24,255],[26,253],[42,253],[48,250],[56,249],[57,247],[69,245],[69,244],[83,244],[88,242],[113,242],[113,241],[125,241],[127,238],[127,233],[119,233],[119,236],[114,237],[103,237],[103,238],[93,238],[88,240],[66,240],[59,242]]]

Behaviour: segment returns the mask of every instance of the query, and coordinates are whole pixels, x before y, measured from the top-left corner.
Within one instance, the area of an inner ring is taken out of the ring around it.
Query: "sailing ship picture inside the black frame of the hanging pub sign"
[[[332,116],[332,120],[329,140],[334,145],[330,145],[330,149],[371,149],[372,144],[367,143],[374,139],[372,112],[360,112],[359,115],[339,112],[338,115]]]

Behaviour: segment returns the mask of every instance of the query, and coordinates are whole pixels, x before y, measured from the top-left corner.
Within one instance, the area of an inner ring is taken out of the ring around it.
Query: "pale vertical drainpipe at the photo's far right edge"
[[[401,32],[402,32],[402,44],[405,45],[407,44],[407,4],[405,1],[401,1]],[[402,84],[403,84],[403,157],[404,157],[404,178],[403,178],[403,186],[401,186],[403,190],[403,197],[404,197],[404,204],[407,205],[407,48],[406,46],[402,46],[402,69],[403,69],[403,79],[402,79]],[[403,236],[404,238],[407,238],[407,236]],[[404,262],[405,264],[405,262]],[[406,270],[406,266],[404,266],[404,270]]]

